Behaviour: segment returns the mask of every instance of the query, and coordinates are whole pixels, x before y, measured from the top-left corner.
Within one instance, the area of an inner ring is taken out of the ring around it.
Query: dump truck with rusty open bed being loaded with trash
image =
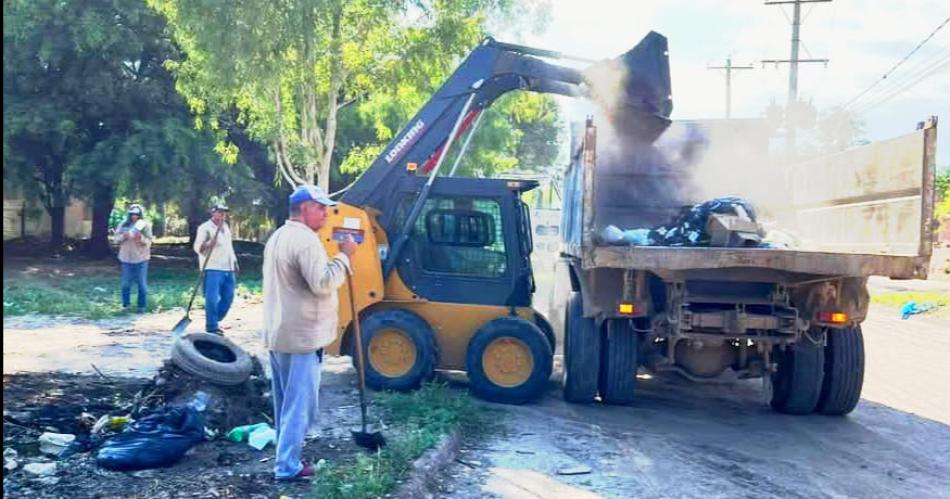
[[[658,191],[689,171],[644,168],[636,157],[604,164],[599,151],[615,139],[599,139],[588,120],[565,174],[552,294],[564,398],[630,403],[642,368],[696,382],[761,378],[783,413],[852,411],[868,277],[927,277],[936,134],[933,117],[907,135],[786,166],[774,186],[798,247],[635,246],[607,244],[601,233],[675,218],[682,207]],[[659,187],[626,188],[636,185]]]

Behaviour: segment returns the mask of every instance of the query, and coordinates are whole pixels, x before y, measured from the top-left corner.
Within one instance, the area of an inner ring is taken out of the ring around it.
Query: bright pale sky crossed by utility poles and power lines
[[[788,65],[762,67],[763,59],[790,56],[792,6],[754,0],[536,0],[547,16],[542,32],[520,30],[518,43],[593,59],[615,57],[650,30],[669,40],[673,118],[725,115],[727,57],[734,65],[732,116],[760,117],[771,102],[784,105]],[[887,72],[944,20],[946,0],[833,0],[802,6],[798,92],[819,111],[841,106]],[[508,41],[506,35],[498,35]],[[904,88],[904,91],[897,92]],[[567,112],[577,113],[579,108]],[[886,80],[852,104],[875,141],[914,130],[928,116],[938,126],[937,164],[950,166],[950,25],[945,26]],[[942,129],[942,130],[941,130]]]

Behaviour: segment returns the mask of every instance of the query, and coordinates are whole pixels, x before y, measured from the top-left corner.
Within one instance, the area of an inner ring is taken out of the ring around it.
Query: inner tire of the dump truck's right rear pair
[[[772,373],[772,408],[785,414],[814,412],[824,378],[824,347],[802,337],[784,351],[776,348],[774,355],[778,370]]]

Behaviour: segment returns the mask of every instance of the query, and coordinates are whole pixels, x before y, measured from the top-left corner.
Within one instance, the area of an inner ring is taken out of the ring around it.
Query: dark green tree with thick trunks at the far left
[[[4,178],[42,199],[54,249],[69,199],[90,201],[90,248],[107,254],[123,164],[103,151],[184,110],[163,67],[177,57],[164,20],[141,0],[5,1],[3,53]]]

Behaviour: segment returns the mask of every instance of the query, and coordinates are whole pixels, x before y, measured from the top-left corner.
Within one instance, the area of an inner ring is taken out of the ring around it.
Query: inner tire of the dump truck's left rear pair
[[[600,355],[600,399],[606,404],[633,402],[640,337],[629,319],[604,321]]]

